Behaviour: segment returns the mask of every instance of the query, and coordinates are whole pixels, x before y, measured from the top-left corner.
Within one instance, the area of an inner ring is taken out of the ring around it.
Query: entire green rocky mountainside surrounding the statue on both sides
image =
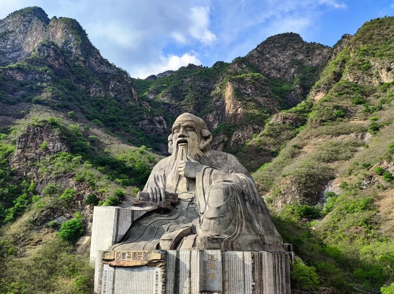
[[[130,203],[185,111],[253,172],[300,258],[294,293],[390,284],[393,40],[393,17],[333,48],[283,33],[143,80],[76,20],[39,7],[0,20],[0,293],[92,293],[93,205]]]

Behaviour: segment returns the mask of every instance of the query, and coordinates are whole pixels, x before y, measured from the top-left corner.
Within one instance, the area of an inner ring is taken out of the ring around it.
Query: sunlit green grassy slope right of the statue
[[[381,74],[391,71],[393,31],[393,17],[361,27],[316,83],[328,92],[306,127],[253,175],[284,240],[338,293],[394,278],[394,83]],[[305,286],[299,276],[294,284]]]

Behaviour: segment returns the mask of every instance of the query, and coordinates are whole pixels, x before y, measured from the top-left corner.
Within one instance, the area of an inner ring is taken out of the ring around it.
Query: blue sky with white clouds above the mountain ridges
[[[332,46],[394,15],[394,0],[0,0],[0,19],[27,6],[75,18],[104,58],[140,78],[231,62],[277,33]]]

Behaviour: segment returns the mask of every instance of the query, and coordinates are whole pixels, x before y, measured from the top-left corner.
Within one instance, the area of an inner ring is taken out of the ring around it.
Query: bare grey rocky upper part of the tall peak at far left
[[[54,58],[61,56],[60,52],[49,52],[48,46],[40,46],[40,42],[47,40],[57,44],[72,61],[83,65],[93,77],[100,79],[112,97],[137,99],[129,74],[101,57],[76,20],[62,17],[49,20],[39,7],[18,10],[0,20],[0,65],[16,63],[37,50],[51,64],[58,60],[60,64],[55,65],[56,68],[66,69],[64,57]],[[51,49],[56,50],[54,47]]]

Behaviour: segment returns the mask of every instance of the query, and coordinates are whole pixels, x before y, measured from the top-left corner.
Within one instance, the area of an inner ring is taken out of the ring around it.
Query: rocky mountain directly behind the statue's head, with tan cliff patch
[[[305,99],[329,53],[329,47],[307,43],[296,33],[279,34],[230,64],[181,67],[144,81],[138,93],[141,99],[164,102],[174,117],[185,111],[199,115],[216,135],[213,147],[233,153],[262,131],[272,114]]]

